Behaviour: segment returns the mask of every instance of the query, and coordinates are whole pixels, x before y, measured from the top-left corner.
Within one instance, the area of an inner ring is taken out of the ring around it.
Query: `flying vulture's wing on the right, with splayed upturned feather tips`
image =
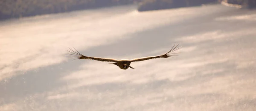
[[[177,44],[178,46],[179,44]],[[134,58],[132,60],[130,60],[131,62],[136,62],[136,61],[145,61],[145,60],[148,60],[148,59],[153,59],[153,58],[169,58],[169,57],[172,57],[172,55],[175,55],[177,53],[174,53],[176,50],[178,50],[180,47],[177,48],[177,46],[175,47],[175,44],[174,46],[172,47],[171,50],[169,50],[169,52],[167,52],[166,54],[163,54],[163,55],[157,55],[157,56],[150,56],[150,57],[143,57],[143,58]]]

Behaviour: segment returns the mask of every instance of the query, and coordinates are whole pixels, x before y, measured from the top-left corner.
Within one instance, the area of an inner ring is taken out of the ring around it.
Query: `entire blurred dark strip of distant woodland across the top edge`
[[[139,3],[138,11],[231,3],[253,8],[256,0],[0,0],[0,20]]]

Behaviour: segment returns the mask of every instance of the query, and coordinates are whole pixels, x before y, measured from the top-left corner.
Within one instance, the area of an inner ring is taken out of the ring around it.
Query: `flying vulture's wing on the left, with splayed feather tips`
[[[69,48],[70,49],[70,48]],[[74,48],[74,50],[76,50]],[[96,61],[106,61],[106,62],[117,62],[118,60],[113,59],[113,58],[97,58],[97,57],[88,57],[88,56],[84,56],[81,53],[79,53],[77,50],[74,51],[72,49],[67,50],[69,53],[69,55],[73,56],[76,59],[91,59],[91,60],[96,60]]]

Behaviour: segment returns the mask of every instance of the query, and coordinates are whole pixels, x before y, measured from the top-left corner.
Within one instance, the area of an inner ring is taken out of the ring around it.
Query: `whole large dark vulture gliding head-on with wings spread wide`
[[[177,46],[178,45],[179,44],[177,44]],[[98,58],[98,57],[84,56],[81,53],[79,53],[75,48],[74,48],[74,50],[69,48],[70,50],[67,50],[67,51],[69,52],[68,54],[73,56],[75,59],[90,59],[90,60],[96,60],[96,61],[113,62],[113,63],[109,63],[109,64],[115,64],[120,69],[128,69],[129,67],[131,69],[134,69],[133,67],[130,66],[131,62],[145,61],[145,60],[149,60],[149,59],[153,59],[153,58],[172,57],[173,55],[177,54],[174,52],[180,48],[180,47],[177,48],[177,46],[175,47],[175,45],[174,45],[171,50],[169,50],[167,53],[165,53],[163,55],[149,56],[149,57],[143,57],[143,58],[134,58],[134,59],[121,59],[121,60],[117,60],[117,59],[113,59],[113,58]]]

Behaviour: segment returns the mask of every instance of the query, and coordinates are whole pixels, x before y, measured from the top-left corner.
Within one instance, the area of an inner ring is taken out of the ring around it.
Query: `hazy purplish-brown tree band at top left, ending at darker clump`
[[[140,0],[0,0],[0,19],[126,5]]]

